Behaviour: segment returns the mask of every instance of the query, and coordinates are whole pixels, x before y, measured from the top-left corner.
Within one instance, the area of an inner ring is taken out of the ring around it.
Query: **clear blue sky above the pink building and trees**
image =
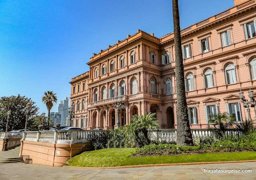
[[[232,6],[179,0],[181,29]],[[57,104],[70,97],[68,77],[88,71],[92,53],[137,29],[156,37],[172,32],[171,0],[0,0],[0,97],[21,94],[47,112],[44,91],[56,93]]]

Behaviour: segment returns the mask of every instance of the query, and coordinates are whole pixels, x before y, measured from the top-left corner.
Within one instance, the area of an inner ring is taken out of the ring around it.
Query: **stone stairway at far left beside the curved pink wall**
[[[20,153],[20,146],[12,148],[8,151],[0,151],[0,164],[20,162],[21,158],[19,157],[19,153]]]

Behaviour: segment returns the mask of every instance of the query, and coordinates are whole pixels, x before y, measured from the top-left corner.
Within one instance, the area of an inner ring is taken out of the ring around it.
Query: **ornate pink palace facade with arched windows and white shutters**
[[[248,119],[238,92],[256,95],[256,2],[235,6],[181,30],[190,128],[206,128],[208,115]],[[177,100],[173,32],[161,38],[137,30],[94,54],[89,71],[72,78],[72,126],[113,129],[115,97],[123,96],[120,126],[134,114],[155,112],[160,128],[176,128]],[[255,108],[250,108],[252,119]]]

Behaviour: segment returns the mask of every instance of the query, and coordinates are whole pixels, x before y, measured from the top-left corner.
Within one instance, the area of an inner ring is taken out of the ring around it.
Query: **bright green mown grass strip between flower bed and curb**
[[[135,148],[109,148],[95,151],[87,151],[77,156],[74,156],[66,163],[66,165],[85,167],[113,167],[141,164],[256,160],[256,152],[227,152],[170,156],[128,157],[135,151]]]

